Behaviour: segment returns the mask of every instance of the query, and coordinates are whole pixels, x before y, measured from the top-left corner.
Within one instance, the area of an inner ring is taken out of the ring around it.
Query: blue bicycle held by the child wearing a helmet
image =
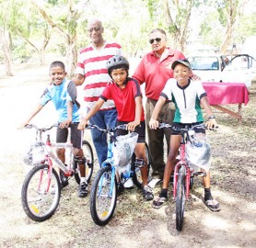
[[[101,167],[94,178],[90,191],[90,213],[92,220],[94,220],[94,222],[99,226],[104,226],[109,223],[116,208],[118,183],[119,185],[123,184],[125,180],[132,178],[135,186],[138,188],[142,187],[140,166],[143,166],[144,162],[136,159],[133,152],[130,157],[132,158],[131,167],[128,167],[128,169],[126,168],[125,173],[120,172],[113,159],[113,146],[116,142],[114,131],[117,129],[126,130],[126,125],[120,125],[115,128],[108,128],[106,130],[100,129],[97,125],[87,126],[87,129],[93,128],[103,131],[109,135],[107,159],[101,164]],[[148,166],[147,174],[149,174],[150,155],[146,143],[145,156]]]

